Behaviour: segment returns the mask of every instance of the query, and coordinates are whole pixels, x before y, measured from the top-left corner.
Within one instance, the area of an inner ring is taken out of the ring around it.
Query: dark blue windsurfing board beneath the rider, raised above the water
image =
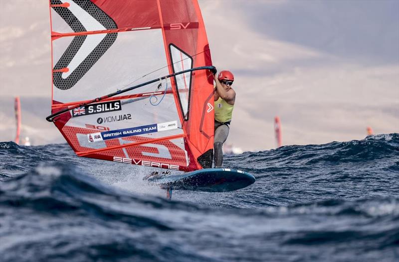
[[[247,187],[255,182],[249,173],[234,169],[201,169],[179,175],[154,175],[148,178],[151,184],[164,189],[183,189],[204,192],[226,192]]]

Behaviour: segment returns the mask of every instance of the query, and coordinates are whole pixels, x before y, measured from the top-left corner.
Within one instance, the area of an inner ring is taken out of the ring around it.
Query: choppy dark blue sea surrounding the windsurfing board
[[[399,261],[399,134],[223,164],[255,183],[167,200],[152,169],[0,142],[0,261]]]

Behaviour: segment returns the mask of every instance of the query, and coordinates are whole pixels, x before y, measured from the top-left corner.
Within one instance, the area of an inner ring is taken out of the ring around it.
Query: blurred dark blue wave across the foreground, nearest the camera
[[[276,250],[298,257],[298,247],[318,254],[333,243],[376,258],[371,251],[394,249],[399,235],[398,197],[212,208],[135,195],[59,163],[1,183],[0,207],[4,261],[291,260]]]

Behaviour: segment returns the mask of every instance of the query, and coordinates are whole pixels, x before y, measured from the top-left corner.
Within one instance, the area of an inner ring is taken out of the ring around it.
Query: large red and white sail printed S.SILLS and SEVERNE
[[[78,156],[211,166],[213,75],[197,0],[50,0],[53,121]]]

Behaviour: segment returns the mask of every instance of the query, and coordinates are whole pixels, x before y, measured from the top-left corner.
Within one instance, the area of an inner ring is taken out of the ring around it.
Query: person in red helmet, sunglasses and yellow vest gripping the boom
[[[229,131],[229,125],[235,102],[235,91],[231,88],[234,76],[230,71],[220,71],[219,74],[213,75],[216,83],[214,91],[214,110],[215,110],[215,126],[214,126],[214,142],[213,142],[213,159],[214,167],[221,168],[223,164],[222,146],[226,141]]]

